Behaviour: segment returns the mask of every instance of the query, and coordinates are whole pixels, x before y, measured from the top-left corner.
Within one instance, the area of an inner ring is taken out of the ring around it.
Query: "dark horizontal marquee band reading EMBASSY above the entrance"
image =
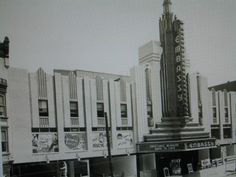
[[[137,144],[138,152],[175,152],[186,150],[197,150],[205,148],[214,148],[215,139],[181,141],[181,142],[153,142]]]

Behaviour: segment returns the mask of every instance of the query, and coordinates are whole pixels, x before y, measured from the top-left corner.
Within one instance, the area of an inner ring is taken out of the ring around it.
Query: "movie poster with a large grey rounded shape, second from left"
[[[85,133],[65,133],[65,145],[68,151],[84,151],[86,150],[86,134]]]

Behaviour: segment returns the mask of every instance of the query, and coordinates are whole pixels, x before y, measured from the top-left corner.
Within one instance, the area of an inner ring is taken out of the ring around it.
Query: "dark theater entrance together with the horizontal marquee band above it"
[[[143,154],[155,154],[157,176],[184,175],[201,168],[203,159],[208,159],[209,149],[215,147],[215,139],[196,139],[180,141],[144,142],[137,144],[139,156],[138,173],[143,172]],[[203,155],[204,154],[204,155]],[[153,169],[149,169],[153,171]]]

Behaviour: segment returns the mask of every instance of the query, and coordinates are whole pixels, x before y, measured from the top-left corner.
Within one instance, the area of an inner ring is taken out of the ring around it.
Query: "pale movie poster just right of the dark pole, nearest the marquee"
[[[117,146],[118,148],[131,148],[133,147],[133,133],[132,131],[124,131],[117,133]]]

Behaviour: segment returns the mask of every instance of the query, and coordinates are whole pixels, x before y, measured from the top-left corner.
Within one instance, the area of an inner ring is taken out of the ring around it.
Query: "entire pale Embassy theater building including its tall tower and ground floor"
[[[139,48],[130,75],[9,68],[1,43],[5,176],[108,176],[105,113],[114,176],[183,175],[235,154],[236,94],[189,73],[183,22],[170,0],[163,9],[160,42]]]

